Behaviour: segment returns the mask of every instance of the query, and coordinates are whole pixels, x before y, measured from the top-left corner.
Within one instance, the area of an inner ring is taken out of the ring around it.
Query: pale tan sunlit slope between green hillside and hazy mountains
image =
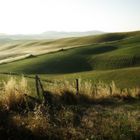
[[[73,37],[58,40],[11,40],[0,41],[0,64],[12,62],[21,58],[27,58],[33,55],[41,55],[48,52],[55,52],[61,49],[86,46],[95,43],[103,43],[127,39],[137,35],[133,33],[110,33],[87,37]]]

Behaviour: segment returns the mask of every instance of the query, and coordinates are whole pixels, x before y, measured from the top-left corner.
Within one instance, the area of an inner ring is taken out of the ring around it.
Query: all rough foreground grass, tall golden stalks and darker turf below
[[[54,106],[35,104],[26,108],[25,94],[31,93],[24,77],[3,82],[0,91],[0,139],[59,140],[139,140],[140,103],[114,104],[91,101],[139,99],[140,89],[119,89],[115,83],[81,82],[78,95],[75,83],[46,85],[54,98]],[[36,97],[37,98],[37,97]],[[137,102],[138,101],[138,102]],[[62,103],[62,104],[58,104]],[[76,103],[76,105],[75,105]],[[24,107],[23,107],[24,106]],[[20,112],[19,112],[20,110]]]

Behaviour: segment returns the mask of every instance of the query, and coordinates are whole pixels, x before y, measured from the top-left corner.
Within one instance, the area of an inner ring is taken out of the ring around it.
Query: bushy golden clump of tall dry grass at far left
[[[25,102],[24,94],[28,92],[28,83],[24,77],[20,81],[11,77],[7,82],[3,82],[0,101],[7,110],[17,109]]]

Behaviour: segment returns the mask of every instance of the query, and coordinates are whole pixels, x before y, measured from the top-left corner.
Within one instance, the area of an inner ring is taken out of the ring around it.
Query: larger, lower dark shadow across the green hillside
[[[67,74],[75,72],[90,71],[88,60],[82,56],[69,56],[66,58],[52,59],[47,63],[38,65],[35,69],[29,67],[24,69],[25,74]]]

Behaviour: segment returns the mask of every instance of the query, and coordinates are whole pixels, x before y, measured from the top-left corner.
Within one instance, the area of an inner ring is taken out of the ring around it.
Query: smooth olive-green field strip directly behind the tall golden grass
[[[80,78],[82,81],[111,83],[112,81],[120,88],[131,88],[140,86],[140,67],[113,69],[113,70],[94,70],[62,75],[42,75],[41,78],[50,80],[69,80],[71,82]]]

